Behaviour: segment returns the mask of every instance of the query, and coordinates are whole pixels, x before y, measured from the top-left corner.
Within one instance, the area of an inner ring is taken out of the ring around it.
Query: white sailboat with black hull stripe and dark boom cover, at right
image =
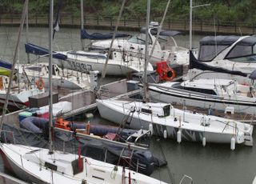
[[[190,53],[190,64],[196,60]],[[196,62],[196,61],[195,61]],[[201,64],[202,63],[198,63]],[[193,64],[192,64],[193,65]],[[202,66],[206,69],[206,66]],[[222,72],[234,70],[221,70],[218,67],[209,67]],[[225,74],[226,74],[225,73]],[[236,72],[237,74],[238,71]],[[235,113],[256,114],[256,71],[250,74],[250,86],[240,84],[236,80],[223,78],[191,78],[183,82],[162,82],[149,84],[150,96],[162,102],[175,102],[180,105],[226,110],[234,108]],[[232,113],[234,113],[232,112]]]

